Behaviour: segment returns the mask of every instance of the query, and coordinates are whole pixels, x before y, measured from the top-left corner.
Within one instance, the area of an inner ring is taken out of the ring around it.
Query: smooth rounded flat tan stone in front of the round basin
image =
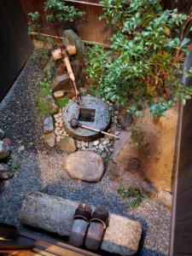
[[[77,151],[67,157],[65,169],[74,179],[98,182],[104,172],[102,156],[93,151]]]

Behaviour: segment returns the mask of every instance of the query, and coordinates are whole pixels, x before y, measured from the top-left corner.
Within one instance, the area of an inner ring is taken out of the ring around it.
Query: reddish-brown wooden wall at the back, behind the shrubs
[[[99,16],[102,15],[102,5],[99,4],[99,0],[67,0],[68,5],[82,10],[86,13],[82,17],[78,18],[74,23],[66,24],[59,29],[59,35],[62,36],[64,29],[73,28],[75,32],[84,41],[91,41],[93,43],[109,44],[108,38],[111,35],[111,30],[107,26],[106,20],[99,21]],[[23,8],[26,20],[28,20],[27,14],[30,12],[38,11],[41,16],[41,26],[43,32],[55,34],[47,29],[48,24],[44,15],[44,0],[20,0]]]

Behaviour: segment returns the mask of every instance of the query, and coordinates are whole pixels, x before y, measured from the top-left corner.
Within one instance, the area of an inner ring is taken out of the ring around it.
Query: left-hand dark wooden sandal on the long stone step
[[[91,208],[82,204],[76,209],[73,215],[73,225],[69,236],[69,243],[74,247],[81,247],[84,242],[84,236],[90,223]]]

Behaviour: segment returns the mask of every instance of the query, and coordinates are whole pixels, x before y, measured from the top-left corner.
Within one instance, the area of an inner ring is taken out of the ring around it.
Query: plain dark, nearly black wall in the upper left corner
[[[0,101],[32,52],[19,0],[0,3]]]

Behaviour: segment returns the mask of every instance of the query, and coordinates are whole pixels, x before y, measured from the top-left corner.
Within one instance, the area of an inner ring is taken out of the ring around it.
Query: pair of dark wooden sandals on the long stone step
[[[107,225],[108,210],[106,208],[96,207],[91,215],[90,206],[81,204],[73,215],[69,243],[74,247],[81,247],[84,243],[85,247],[90,250],[97,250],[101,245]]]

